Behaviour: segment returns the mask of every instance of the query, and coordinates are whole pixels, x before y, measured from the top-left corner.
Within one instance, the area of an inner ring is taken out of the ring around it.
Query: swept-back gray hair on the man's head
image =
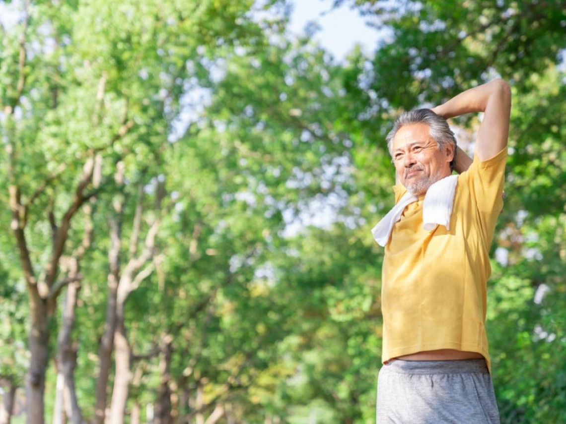
[[[421,123],[428,125],[428,133],[436,141],[440,150],[444,150],[444,146],[447,144],[454,146],[454,158],[450,162],[450,168],[453,169],[454,163],[456,163],[456,137],[454,137],[454,133],[448,126],[448,122],[430,109],[415,109],[404,112],[395,120],[393,129],[385,137],[389,154],[393,157],[393,137],[395,137],[395,134],[401,127],[408,124]]]

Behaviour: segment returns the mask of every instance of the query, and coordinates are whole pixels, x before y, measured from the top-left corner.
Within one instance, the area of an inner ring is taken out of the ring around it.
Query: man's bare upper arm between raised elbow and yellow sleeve
[[[475,155],[480,161],[491,159],[507,146],[510,113],[511,89],[505,81],[498,80],[487,99],[479,126]]]

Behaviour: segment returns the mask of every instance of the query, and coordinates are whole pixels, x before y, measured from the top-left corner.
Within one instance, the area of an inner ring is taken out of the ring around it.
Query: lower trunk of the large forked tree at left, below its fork
[[[36,293],[30,294],[31,329],[28,343],[29,370],[25,376],[27,424],[44,424],[45,371],[48,365],[49,326],[46,302]]]

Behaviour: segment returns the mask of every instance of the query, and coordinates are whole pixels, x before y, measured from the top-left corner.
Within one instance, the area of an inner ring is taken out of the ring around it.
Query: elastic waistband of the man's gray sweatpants
[[[399,374],[489,374],[484,359],[456,361],[403,361],[394,359],[384,364],[383,368]]]

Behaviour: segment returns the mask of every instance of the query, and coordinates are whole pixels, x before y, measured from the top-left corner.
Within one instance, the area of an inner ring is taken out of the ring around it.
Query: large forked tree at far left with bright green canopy
[[[214,49],[260,33],[244,16],[250,2],[222,6],[27,2],[20,23],[2,28],[5,167],[31,310],[29,422],[44,420],[50,320],[61,289],[75,281],[57,279],[60,261],[73,218],[97,193],[88,191],[95,157],[107,164],[104,190],[112,163],[128,155],[145,161],[167,142],[179,98],[195,81],[207,83],[204,63],[212,63]],[[51,227],[53,235],[31,243],[30,227]]]

